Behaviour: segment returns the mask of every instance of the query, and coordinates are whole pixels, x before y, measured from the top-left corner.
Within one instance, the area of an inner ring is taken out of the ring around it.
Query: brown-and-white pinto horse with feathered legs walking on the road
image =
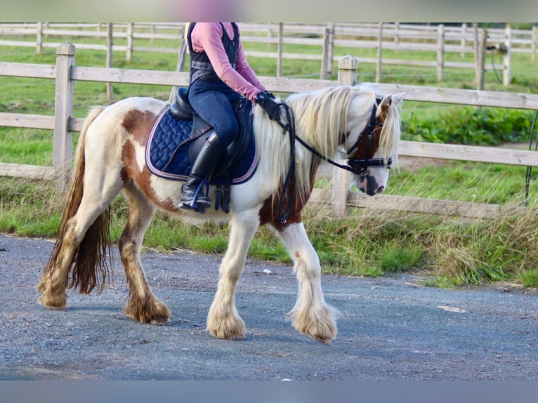
[[[398,154],[402,98],[403,93],[379,95],[366,84],[290,94],[285,105],[294,121],[294,137],[283,136],[283,126],[254,105],[256,172],[247,182],[231,186],[228,213],[208,209],[205,214],[178,206],[181,181],[161,178],[147,169],[148,133],[169,103],[131,97],[91,108],[74,153],[58,237],[37,285],[39,303],[63,310],[67,288],[79,293],[103,291],[112,263],[110,204],[123,192],[128,213],[117,244],[129,286],[123,307],[127,316],[143,323],[171,323],[171,311],[152,293],[140,262],[144,233],[157,209],[163,209],[185,220],[228,221],[228,248],[206,318],[206,331],[212,336],[245,337],[235,289],[251,241],[258,227],[267,225],[280,236],[294,262],[298,293],[287,319],[297,331],[330,344],[337,333],[338,310],[324,300],[320,259],[306,234],[301,210],[321,161],[334,162],[330,157],[337,152],[354,166],[345,169],[353,172],[357,189],[370,195],[383,192],[392,158]],[[294,166],[294,180],[284,185],[289,166]],[[214,199],[213,186],[209,192]],[[289,206],[285,219],[279,212],[282,201]]]

